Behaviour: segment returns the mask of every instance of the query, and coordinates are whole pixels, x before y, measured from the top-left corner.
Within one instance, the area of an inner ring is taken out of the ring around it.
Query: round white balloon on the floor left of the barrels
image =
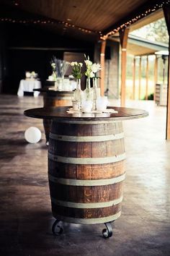
[[[29,127],[24,132],[24,138],[27,142],[37,143],[41,139],[41,131],[37,127]]]

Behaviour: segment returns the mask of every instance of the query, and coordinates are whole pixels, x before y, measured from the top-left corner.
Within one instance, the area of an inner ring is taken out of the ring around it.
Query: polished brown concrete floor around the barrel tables
[[[149,116],[124,121],[127,160],[122,216],[115,221],[112,238],[103,239],[102,224],[63,223],[63,234],[52,235],[42,121],[23,115],[25,109],[39,106],[42,97],[0,95],[0,255],[170,255],[166,108],[149,101],[127,104],[148,110]],[[42,132],[37,144],[24,140],[24,131],[31,126]]]

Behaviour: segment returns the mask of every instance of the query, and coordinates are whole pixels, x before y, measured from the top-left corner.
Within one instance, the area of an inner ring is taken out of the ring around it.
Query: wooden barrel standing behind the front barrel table
[[[55,90],[48,90],[47,92],[43,93],[43,100],[44,100],[44,107],[50,106],[71,106],[71,98],[73,97],[73,92],[68,91],[55,91]],[[46,141],[49,141],[50,135],[50,126],[51,120],[50,119],[43,119],[43,126],[45,129],[45,137]]]

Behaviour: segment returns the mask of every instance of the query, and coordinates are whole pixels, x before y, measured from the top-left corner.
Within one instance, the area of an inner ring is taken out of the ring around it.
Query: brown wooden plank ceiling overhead
[[[56,33],[80,38],[99,39],[101,33],[113,29],[123,20],[134,17],[139,10],[151,6],[153,0],[1,0],[11,8],[12,18],[32,17],[50,19],[41,24]],[[0,10],[1,17],[3,8]],[[7,13],[9,15],[9,13]],[[10,16],[9,15],[9,16]],[[15,15],[17,17],[15,17]],[[33,15],[33,16],[32,16]],[[150,19],[151,21],[154,20]],[[51,22],[53,21],[53,22]]]

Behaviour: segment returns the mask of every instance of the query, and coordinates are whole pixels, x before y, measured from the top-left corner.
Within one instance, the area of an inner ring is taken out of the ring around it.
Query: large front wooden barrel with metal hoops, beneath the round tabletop
[[[53,121],[48,149],[53,216],[71,223],[115,221],[124,160],[122,121]]]

